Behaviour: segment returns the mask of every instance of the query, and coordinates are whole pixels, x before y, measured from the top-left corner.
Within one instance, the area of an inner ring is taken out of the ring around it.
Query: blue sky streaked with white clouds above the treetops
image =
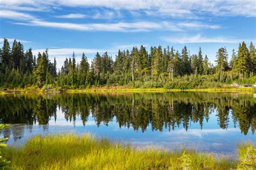
[[[0,1],[0,43],[20,40],[33,54],[49,49],[58,67],[82,52],[91,60],[108,51],[113,59],[132,46],[167,45],[198,53],[214,63],[219,47],[229,55],[243,40],[256,39],[255,1]]]

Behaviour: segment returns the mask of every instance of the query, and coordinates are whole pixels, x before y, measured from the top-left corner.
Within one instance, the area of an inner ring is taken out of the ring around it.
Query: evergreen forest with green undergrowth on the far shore
[[[228,59],[230,58],[230,59]],[[142,87],[165,89],[223,88],[233,83],[256,83],[255,46],[245,42],[233,49],[226,47],[216,52],[215,63],[202,55],[190,54],[186,46],[179,52],[173,46],[141,45],[132,50],[118,51],[115,59],[105,52],[97,52],[89,64],[83,53],[77,62],[75,52],[57,69],[56,59],[49,59],[48,49],[33,54],[14,40],[12,47],[4,38],[0,49],[0,87],[9,89],[90,89],[91,87]]]

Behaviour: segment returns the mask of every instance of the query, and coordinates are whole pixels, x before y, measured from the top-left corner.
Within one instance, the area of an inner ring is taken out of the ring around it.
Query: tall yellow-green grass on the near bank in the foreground
[[[238,165],[237,160],[210,153],[134,149],[90,134],[37,136],[25,146],[5,148],[4,155],[15,169],[231,169]]]

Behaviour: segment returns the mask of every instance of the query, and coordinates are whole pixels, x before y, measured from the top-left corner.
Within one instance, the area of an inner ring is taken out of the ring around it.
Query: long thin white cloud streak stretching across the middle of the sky
[[[30,26],[43,26],[46,28],[60,28],[79,31],[111,31],[111,32],[143,32],[152,30],[167,30],[167,31],[183,31],[184,29],[217,29],[219,25],[207,25],[202,23],[172,23],[172,22],[133,22],[133,23],[61,23],[48,22],[39,19],[34,19],[29,22],[16,23]]]

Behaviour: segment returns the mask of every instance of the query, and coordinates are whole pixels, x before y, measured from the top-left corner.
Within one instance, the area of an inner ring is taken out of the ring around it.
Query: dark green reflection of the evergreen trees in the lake
[[[230,121],[239,125],[245,135],[256,126],[255,98],[245,94],[225,93],[165,93],[165,94],[26,94],[0,98],[0,119],[11,124],[48,124],[57,119],[57,107],[67,121],[75,124],[79,117],[86,124],[91,113],[96,124],[108,125],[116,118],[119,127],[134,130],[162,131],[191,123],[201,128],[211,114],[216,114],[220,128]]]

